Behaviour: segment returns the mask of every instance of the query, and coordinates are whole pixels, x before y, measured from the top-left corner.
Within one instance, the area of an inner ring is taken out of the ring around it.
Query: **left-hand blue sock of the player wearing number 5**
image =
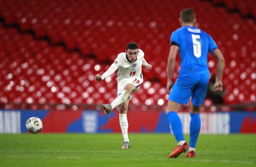
[[[167,114],[167,118],[170,121],[170,124],[172,126],[172,132],[176,138],[176,140],[179,142],[184,139],[183,131],[182,131],[182,123],[180,120],[180,117],[177,112],[170,111]]]

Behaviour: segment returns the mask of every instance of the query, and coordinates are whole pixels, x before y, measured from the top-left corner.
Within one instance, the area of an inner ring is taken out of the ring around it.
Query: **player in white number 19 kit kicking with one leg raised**
[[[98,81],[104,80],[116,70],[117,72],[117,97],[110,104],[103,104],[102,108],[106,114],[109,114],[116,106],[119,107],[119,122],[124,138],[122,149],[130,148],[130,141],[128,138],[128,120],[127,110],[132,93],[138,91],[143,83],[142,65],[146,69],[152,68],[144,59],[144,52],[138,49],[138,45],[134,42],[127,44],[125,52],[118,54],[114,63],[108,68],[102,76],[96,74],[95,79]]]

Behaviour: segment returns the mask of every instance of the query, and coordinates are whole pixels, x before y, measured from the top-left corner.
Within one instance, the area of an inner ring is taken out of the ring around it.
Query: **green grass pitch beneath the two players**
[[[121,149],[121,133],[0,134],[0,167],[256,167],[256,134],[200,135],[196,157],[176,159],[171,134],[129,138]]]

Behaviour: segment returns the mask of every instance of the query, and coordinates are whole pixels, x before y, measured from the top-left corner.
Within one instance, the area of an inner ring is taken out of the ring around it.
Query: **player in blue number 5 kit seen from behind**
[[[195,157],[195,148],[200,132],[201,122],[199,109],[204,102],[210,72],[207,63],[208,52],[217,60],[217,75],[214,91],[222,91],[222,75],[224,70],[224,57],[210,35],[194,27],[195,14],[191,9],[180,12],[178,28],[170,37],[170,52],[167,63],[167,92],[170,92],[166,115],[170,121],[172,131],[178,142],[169,158],[176,158],[180,153],[186,152],[185,157]],[[176,82],[173,84],[172,76],[175,68],[176,55],[180,53],[180,70]],[[170,90],[171,89],[171,90]],[[189,145],[184,139],[182,122],[177,114],[180,105],[190,103],[190,141]]]

